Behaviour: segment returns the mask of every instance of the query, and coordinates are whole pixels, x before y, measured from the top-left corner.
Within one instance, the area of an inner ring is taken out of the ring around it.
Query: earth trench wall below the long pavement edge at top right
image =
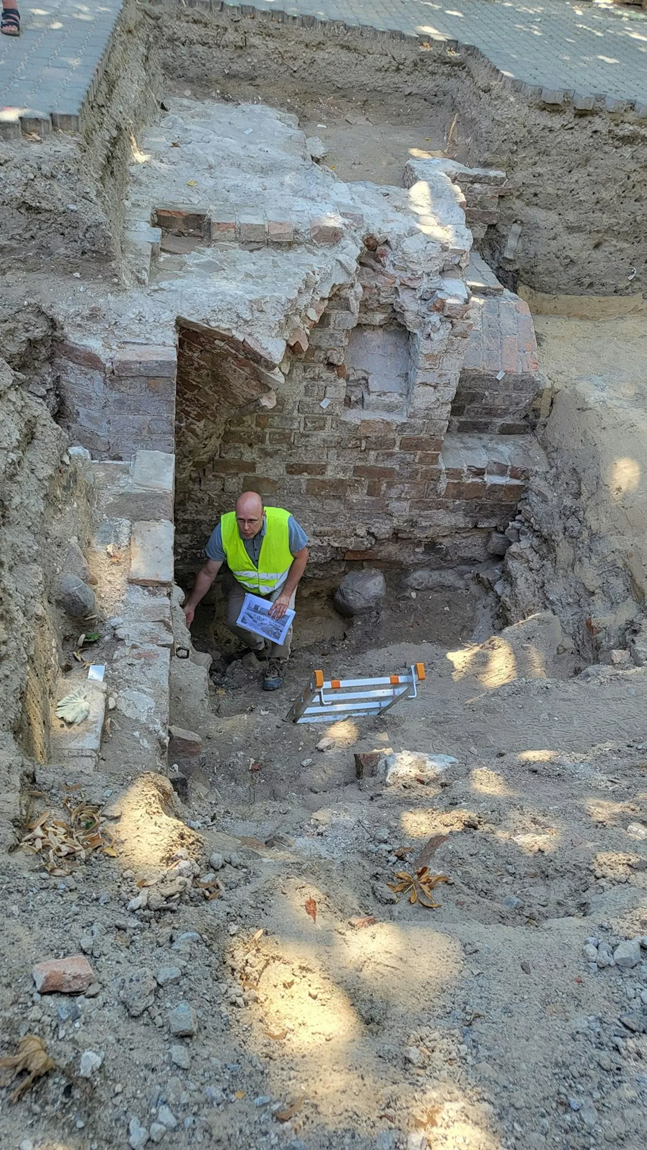
[[[213,95],[217,87],[226,97],[246,82],[263,99],[274,85],[353,92],[360,107],[367,93],[403,100],[415,94],[434,117],[439,108],[452,118],[457,114],[447,153],[508,174],[509,194],[483,245],[508,286],[522,281],[555,293],[641,292],[647,236],[637,221],[647,197],[647,122],[636,113],[529,101],[463,48],[421,48],[414,39],[337,23],[300,28],[238,9],[206,15],[164,3],[149,12],[168,80],[190,83],[194,95]],[[517,222],[521,237],[504,259]]]

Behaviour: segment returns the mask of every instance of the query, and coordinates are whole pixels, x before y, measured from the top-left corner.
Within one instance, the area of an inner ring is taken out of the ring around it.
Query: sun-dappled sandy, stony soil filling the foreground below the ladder
[[[177,1120],[165,1143],[182,1150],[644,1142],[647,952],[598,968],[583,946],[647,931],[647,670],[573,677],[553,616],[482,642],[483,591],[418,595],[392,595],[379,622],[346,637],[330,634],[325,600],[305,606],[276,695],[232,664],[187,805],[154,776],[123,789],[93,776],[83,792],[109,804],[115,859],[52,877],[33,856],[10,857],[5,1046],[29,1030],[70,1072],[85,1050],[103,1060],[92,1095],[60,1072],[15,1106],[3,1091],[3,1144],[125,1145],[129,1122],[152,1129],[163,1106]],[[287,724],[311,667],[309,627],[324,623],[319,654],[338,674],[424,659],[418,699],[379,721]],[[426,785],[360,783],[353,754],[375,747],[456,762]],[[39,772],[34,810],[56,808],[59,788]],[[447,837],[422,856],[434,835]],[[221,897],[192,888],[172,910],[129,910],[155,890],[138,880],[178,850],[201,873],[214,850],[229,860]],[[436,910],[387,885],[416,860],[447,877]],[[353,925],[364,915],[375,922]],[[79,946],[99,986],[72,1003],[75,1019],[69,998],[33,994],[30,968]],[[177,981],[162,989],[154,976],[170,966]],[[141,1013],[134,974],[151,984]],[[193,1037],[170,1035],[179,1002],[197,1011]]]

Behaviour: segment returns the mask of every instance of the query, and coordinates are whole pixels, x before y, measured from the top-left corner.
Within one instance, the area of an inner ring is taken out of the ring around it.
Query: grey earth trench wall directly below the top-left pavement
[[[154,115],[159,64],[152,22],[124,6],[79,135],[0,141],[0,260],[43,271],[120,251],[131,137]]]

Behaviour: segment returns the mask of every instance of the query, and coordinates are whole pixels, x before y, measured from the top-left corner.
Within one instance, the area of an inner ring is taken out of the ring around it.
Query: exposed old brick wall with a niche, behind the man
[[[364,262],[360,281],[362,294],[356,284],[338,291],[309,329],[293,332],[271,408],[260,406],[259,363],[240,342],[180,328],[180,574],[202,561],[219,515],[245,489],[303,523],[314,566],[419,561],[421,544],[445,540],[455,551],[459,538],[459,557],[478,558],[487,529],[509,522],[524,488],[509,461],[501,470],[495,459],[488,466],[487,453],[476,453],[470,471],[470,443],[462,444],[460,467],[456,445],[450,466],[441,457],[471,327],[467,294],[446,284],[426,301],[424,338],[408,332],[405,408],[379,414],[348,406],[346,348],[354,324],[393,323],[395,300],[384,270]]]

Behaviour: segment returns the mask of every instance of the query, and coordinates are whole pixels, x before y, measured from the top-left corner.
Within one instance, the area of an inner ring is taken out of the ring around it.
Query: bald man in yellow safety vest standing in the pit
[[[283,619],[287,608],[294,607],[296,586],[308,562],[307,543],[308,536],[290,512],[263,507],[255,491],[245,491],[236,500],[236,509],[221,515],[205,549],[207,562],[198,572],[184,606],[186,626],[191,627],[195,607],[226,561],[233,576],[228,592],[226,624],[246,646],[264,656],[264,638],[237,626],[242,600],[251,591],[271,601],[269,614],[274,619]],[[291,643],[292,627],[280,645],[270,643],[263,678],[265,691],[276,691],[283,683],[283,665],[290,658]]]

